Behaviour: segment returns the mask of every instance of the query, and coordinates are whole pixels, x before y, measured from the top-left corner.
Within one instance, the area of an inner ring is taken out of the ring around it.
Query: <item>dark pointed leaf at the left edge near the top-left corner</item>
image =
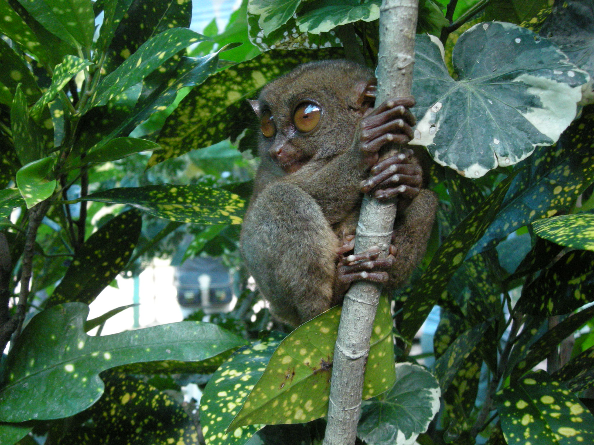
[[[23,59],[2,39],[0,39],[0,63],[5,67],[0,69],[0,83],[10,90],[12,96],[16,93],[19,83],[27,97],[27,103],[33,103],[41,96],[41,91],[37,87],[33,74],[25,65]],[[12,103],[12,100],[10,103]]]

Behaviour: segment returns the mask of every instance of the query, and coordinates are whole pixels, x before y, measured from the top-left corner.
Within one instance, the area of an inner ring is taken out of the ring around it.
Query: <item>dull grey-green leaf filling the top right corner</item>
[[[542,0],[541,0],[542,1]],[[557,45],[572,63],[594,78],[594,11],[582,0],[557,1],[541,36]]]

